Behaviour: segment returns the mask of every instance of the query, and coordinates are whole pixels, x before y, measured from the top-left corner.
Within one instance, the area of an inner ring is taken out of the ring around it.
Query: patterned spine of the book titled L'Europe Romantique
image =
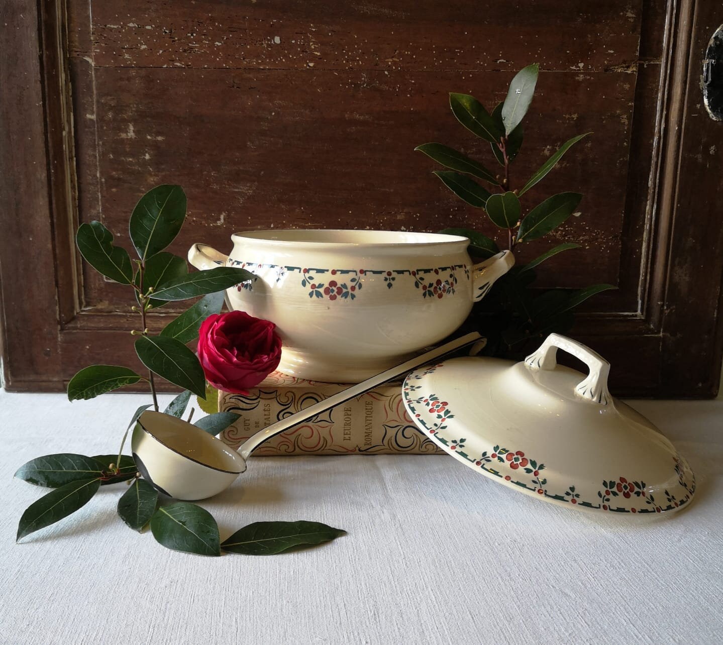
[[[344,386],[339,386],[343,389]],[[339,390],[335,390],[339,391]],[[258,430],[331,396],[325,388],[257,387],[248,394],[221,393],[219,411],[240,418],[221,433],[221,440],[238,448]],[[443,454],[409,418],[401,388],[385,385],[346,401],[263,443],[254,455]]]

